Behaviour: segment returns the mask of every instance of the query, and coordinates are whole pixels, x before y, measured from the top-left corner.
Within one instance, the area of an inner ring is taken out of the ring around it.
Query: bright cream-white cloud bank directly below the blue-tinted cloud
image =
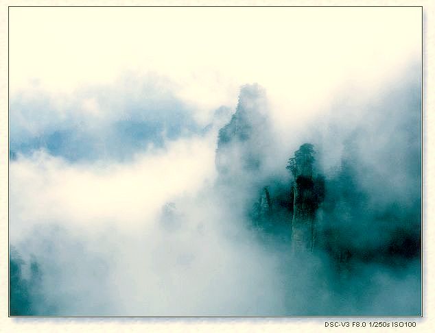
[[[10,168],[12,240],[38,221],[90,228],[146,223],[166,200],[213,181],[213,141],[180,139],[128,164],[70,164],[45,151],[19,155]]]

